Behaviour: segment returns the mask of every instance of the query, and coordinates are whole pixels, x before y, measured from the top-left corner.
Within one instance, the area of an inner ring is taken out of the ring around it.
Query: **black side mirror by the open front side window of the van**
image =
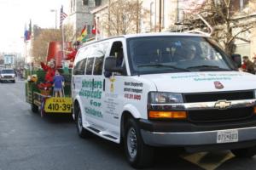
[[[105,77],[108,77],[108,73],[112,73],[112,72],[123,73],[124,72],[123,67],[117,67],[116,64],[117,64],[117,59],[114,56],[109,56],[105,59],[105,65],[104,65]]]

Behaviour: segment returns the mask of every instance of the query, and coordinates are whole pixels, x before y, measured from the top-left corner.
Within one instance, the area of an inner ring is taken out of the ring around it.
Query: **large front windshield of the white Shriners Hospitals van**
[[[208,37],[132,37],[127,48],[132,75],[235,69]]]

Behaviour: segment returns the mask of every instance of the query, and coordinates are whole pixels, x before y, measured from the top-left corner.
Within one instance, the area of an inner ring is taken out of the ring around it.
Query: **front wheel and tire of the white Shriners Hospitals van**
[[[154,148],[143,143],[140,129],[133,118],[126,123],[124,144],[126,159],[132,167],[142,168],[152,165]]]

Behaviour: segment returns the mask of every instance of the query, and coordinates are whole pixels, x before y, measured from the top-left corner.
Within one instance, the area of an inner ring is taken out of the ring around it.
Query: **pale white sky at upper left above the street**
[[[0,52],[24,51],[25,25],[29,20],[32,25],[42,28],[55,28],[55,12],[57,10],[57,26],[59,26],[61,4],[67,14],[69,0],[0,0]]]

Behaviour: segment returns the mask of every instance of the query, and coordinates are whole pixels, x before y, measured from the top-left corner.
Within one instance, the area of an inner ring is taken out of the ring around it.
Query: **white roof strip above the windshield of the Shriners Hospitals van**
[[[113,39],[113,38],[119,38],[119,37],[124,37],[124,38],[131,38],[131,37],[158,37],[158,36],[189,36],[189,37],[209,37],[204,34],[199,34],[199,33],[185,33],[185,32],[151,32],[151,33],[138,33],[138,34],[127,34],[127,35],[121,35],[121,36],[115,36],[115,37],[108,37],[104,38],[101,40],[93,40],[90,42],[85,43],[84,46],[90,45],[95,42],[102,42],[108,39]],[[82,47],[84,47],[82,46]]]

